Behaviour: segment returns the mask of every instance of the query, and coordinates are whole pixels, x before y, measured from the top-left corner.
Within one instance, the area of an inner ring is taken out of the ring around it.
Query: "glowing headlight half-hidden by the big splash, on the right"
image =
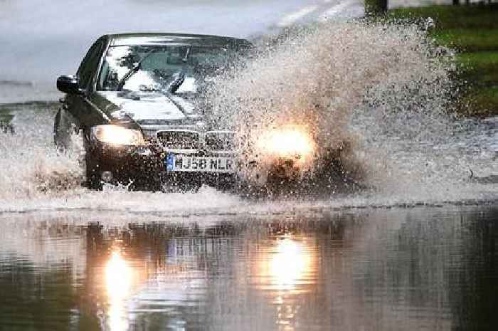
[[[309,157],[315,149],[314,141],[302,127],[283,127],[260,136],[260,152],[279,157]]]

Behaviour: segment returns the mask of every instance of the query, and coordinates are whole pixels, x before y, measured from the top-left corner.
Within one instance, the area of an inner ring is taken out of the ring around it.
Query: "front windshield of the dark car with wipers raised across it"
[[[219,46],[112,46],[97,88],[197,93],[236,58],[235,51]]]

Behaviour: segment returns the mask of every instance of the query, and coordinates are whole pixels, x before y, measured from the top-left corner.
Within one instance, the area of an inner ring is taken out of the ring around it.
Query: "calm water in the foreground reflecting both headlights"
[[[497,216],[0,216],[0,330],[493,330]]]

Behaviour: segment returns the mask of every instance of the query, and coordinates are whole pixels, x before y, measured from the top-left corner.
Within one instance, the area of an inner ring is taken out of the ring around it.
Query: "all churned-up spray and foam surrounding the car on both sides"
[[[435,46],[423,29],[325,23],[261,45],[259,56],[215,81],[211,119],[235,127],[246,145],[272,127],[305,127],[318,147],[312,168],[321,167],[327,148],[348,145],[341,161],[369,189],[263,203],[207,188],[167,199],[122,189],[88,191],[80,185],[80,149],[60,154],[53,147],[53,111],[23,110],[16,112],[15,135],[0,132],[0,211],[182,215],[498,198],[496,183],[469,180],[470,170],[477,177],[498,174],[497,121],[475,124],[450,115],[453,54]]]

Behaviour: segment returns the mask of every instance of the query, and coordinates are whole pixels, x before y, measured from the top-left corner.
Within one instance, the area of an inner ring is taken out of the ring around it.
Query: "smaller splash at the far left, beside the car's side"
[[[48,114],[47,114],[48,112]],[[81,187],[81,148],[67,154],[53,147],[50,107],[16,112],[14,134],[0,132],[0,200],[58,196]]]

